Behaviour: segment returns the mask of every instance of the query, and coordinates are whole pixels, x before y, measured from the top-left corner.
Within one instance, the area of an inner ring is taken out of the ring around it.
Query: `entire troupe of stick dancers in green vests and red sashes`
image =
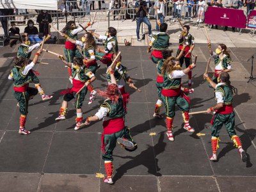
[[[54,53],[60,58],[68,68],[69,80],[72,88],[64,92],[63,102],[60,108],[60,115],[56,117],[56,121],[65,120],[68,111],[68,102],[75,100],[76,107],[76,126],[74,130],[81,129],[90,122],[102,120],[102,159],[104,159],[107,177],[104,182],[113,184],[113,150],[118,142],[125,150],[129,152],[136,150],[137,144],[132,139],[129,127],[125,126],[125,115],[127,113],[127,103],[129,102],[129,93],[125,92],[125,84],[134,88],[131,77],[127,72],[127,67],[121,64],[122,56],[118,52],[118,42],[116,40],[116,29],[108,28],[105,35],[99,35],[86,28],[92,25],[88,23],[85,27],[77,28],[74,21],[69,21],[65,28],[61,31],[61,36],[65,37],[65,58],[58,53]],[[192,70],[196,67],[196,63],[192,63],[191,56],[195,47],[195,39],[189,33],[189,26],[183,26],[179,35],[179,49],[176,57],[172,56],[169,50],[169,35],[166,33],[168,25],[163,23],[159,26],[160,32],[154,35],[148,47],[150,58],[157,67],[157,102],[154,111],[154,118],[163,118],[160,114],[162,104],[166,108],[166,135],[169,141],[174,141],[173,136],[173,118],[175,116],[175,104],[182,111],[184,120],[184,129],[194,132],[195,129],[189,124],[189,93],[193,93],[192,86]],[[85,30],[81,40],[78,40],[77,33]],[[104,49],[97,48],[95,38],[99,38],[104,42]],[[42,53],[44,42],[49,36],[44,38],[40,44],[30,46],[28,36],[22,36],[22,44],[19,46],[15,65],[12,68],[8,79],[13,80],[13,89],[15,98],[20,108],[20,134],[30,134],[25,128],[26,118],[28,115],[28,102],[37,93],[42,95],[43,100],[51,99],[52,96],[45,95],[39,79],[33,67],[38,61],[38,57]],[[35,54],[33,60],[31,51],[41,47]],[[215,72],[211,79],[207,73],[204,74],[211,88],[214,88],[214,94],[217,104],[207,109],[207,113],[213,113],[212,118],[212,156],[211,161],[217,161],[216,151],[218,149],[218,141],[220,129],[225,124],[228,134],[236,147],[239,149],[241,159],[246,161],[246,152],[244,152],[241,140],[236,135],[234,129],[234,111],[232,107],[232,86],[230,85],[231,71],[230,54],[224,44],[218,45],[216,51],[212,51],[211,42],[208,41],[208,48],[211,56],[214,58]],[[49,51],[51,52],[51,51]],[[95,74],[100,65],[97,60],[106,65],[106,80],[108,88],[106,90],[95,90],[93,81],[97,81]],[[182,69],[182,64],[186,64],[186,68]],[[188,88],[182,86],[182,77],[188,74]],[[29,87],[29,83],[35,83],[36,88]],[[83,101],[87,92],[90,92],[91,104],[95,99],[95,95],[104,97],[104,102],[100,105],[99,111],[93,116],[86,118],[83,123]]]

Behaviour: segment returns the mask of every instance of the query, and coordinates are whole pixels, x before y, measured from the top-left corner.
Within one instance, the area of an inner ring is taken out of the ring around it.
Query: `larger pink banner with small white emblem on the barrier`
[[[205,12],[205,23],[218,26],[246,28],[246,16],[243,10],[208,6]]]

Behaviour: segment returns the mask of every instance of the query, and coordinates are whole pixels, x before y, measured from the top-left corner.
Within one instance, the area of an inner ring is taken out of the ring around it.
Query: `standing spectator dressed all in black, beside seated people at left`
[[[39,33],[44,33],[45,36],[49,34],[49,23],[52,22],[52,17],[47,10],[42,10],[39,13],[36,22],[39,24]]]

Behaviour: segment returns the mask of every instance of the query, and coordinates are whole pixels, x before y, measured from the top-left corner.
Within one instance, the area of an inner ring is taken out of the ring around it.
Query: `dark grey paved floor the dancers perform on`
[[[170,30],[176,30],[175,33],[179,31],[175,26]],[[205,110],[215,103],[212,90],[202,79],[209,57],[207,45],[200,44],[205,41],[202,35],[204,32],[200,35],[196,30],[202,29],[192,28],[191,32],[199,42],[194,51],[198,55],[198,65],[193,70],[195,93],[191,95],[191,111]],[[6,46],[0,47],[0,191],[256,191],[256,81],[246,83],[248,79],[244,78],[250,76],[251,62],[247,60],[255,52],[252,48],[256,45],[255,40],[248,40],[250,35],[244,34],[246,38],[241,38],[236,44],[234,42],[238,38],[230,36],[238,34],[230,31],[224,33],[214,30],[210,35],[215,42],[218,42],[219,37],[222,40],[225,35],[232,38],[230,51],[234,71],[230,75],[238,91],[234,96],[236,131],[249,157],[246,163],[241,161],[225,127],[221,131],[218,162],[209,161],[211,129],[204,129],[204,124],[211,120],[211,115],[191,116],[191,125],[196,131],[189,134],[182,129],[182,117],[177,110],[174,120],[175,141],[168,141],[164,120],[152,117],[157,100],[156,67],[148,59],[147,47],[121,46],[123,63],[129,68],[136,86],[142,90],[139,93],[127,87],[131,102],[126,124],[131,127],[138,150],[129,153],[116,147],[115,185],[104,184],[99,178],[100,173],[105,173],[100,152],[102,123],[97,122],[74,131],[75,109],[72,102],[67,120],[54,121],[60,109],[60,92],[71,85],[67,79],[67,68],[51,54],[40,56],[42,61],[50,64],[36,65],[36,70],[40,72],[40,82],[45,93],[54,97],[42,101],[38,95],[29,102],[26,127],[31,134],[18,134],[19,108],[13,97],[12,82],[7,80],[17,47],[11,49]],[[172,36],[173,42],[176,42],[173,32]],[[54,52],[62,53],[63,50],[63,45],[45,47]],[[176,50],[177,44],[173,44],[172,48]],[[105,71],[103,65],[97,71],[96,88],[106,87]],[[255,72],[253,76],[256,76]],[[186,86],[186,78],[183,81]],[[86,98],[83,116],[93,115],[101,102],[102,99],[97,98],[88,106]]]

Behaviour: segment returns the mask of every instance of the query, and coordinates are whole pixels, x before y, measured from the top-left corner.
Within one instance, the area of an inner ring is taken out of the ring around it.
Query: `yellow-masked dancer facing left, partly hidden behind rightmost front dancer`
[[[227,51],[227,46],[225,44],[219,44],[215,52],[211,49],[211,41],[208,41],[209,52],[214,58],[215,73],[212,77],[214,83],[218,83],[217,79],[220,76],[221,72],[230,72],[231,71],[231,62],[230,51]]]

